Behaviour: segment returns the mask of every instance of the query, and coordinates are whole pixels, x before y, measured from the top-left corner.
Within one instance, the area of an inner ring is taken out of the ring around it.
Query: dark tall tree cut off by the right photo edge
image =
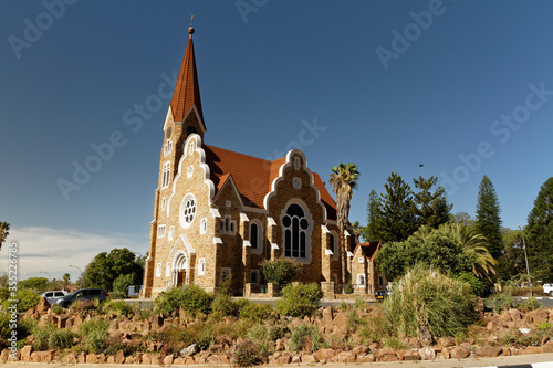
[[[544,281],[553,280],[553,177],[540,188],[528,217],[526,251],[530,271]]]

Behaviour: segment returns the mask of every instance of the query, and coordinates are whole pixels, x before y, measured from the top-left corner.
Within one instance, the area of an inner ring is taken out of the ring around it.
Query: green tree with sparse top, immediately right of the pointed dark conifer
[[[438,182],[438,178],[425,179],[420,176],[413,181],[415,188],[418,189],[418,192],[413,194],[417,208],[418,224],[437,229],[440,224],[448,222],[453,204],[448,203],[446,189],[438,187],[434,192],[431,191]]]

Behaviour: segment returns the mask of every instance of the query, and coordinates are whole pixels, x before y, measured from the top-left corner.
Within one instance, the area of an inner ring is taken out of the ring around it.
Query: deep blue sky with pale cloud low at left
[[[553,172],[551,1],[2,0],[0,221],[21,277],[147,252],[191,13],[207,144],[301,148],[325,181],[357,164],[362,224],[372,189],[422,170],[471,215],[487,175],[503,225],[526,223]]]

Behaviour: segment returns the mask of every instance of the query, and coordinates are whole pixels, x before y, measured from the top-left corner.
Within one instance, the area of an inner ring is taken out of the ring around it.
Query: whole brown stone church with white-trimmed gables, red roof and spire
[[[206,145],[189,29],[164,124],[143,297],[182,284],[237,295],[264,283],[260,262],[304,264],[302,282],[334,290],[341,280],[336,206],[298,149],[269,161]],[[346,233],[346,241],[349,243]]]

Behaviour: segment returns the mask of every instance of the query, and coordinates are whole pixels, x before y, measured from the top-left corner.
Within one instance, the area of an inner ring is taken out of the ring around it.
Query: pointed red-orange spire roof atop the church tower
[[[200,86],[198,84],[198,74],[196,73],[196,59],[194,57],[192,32],[190,32],[190,36],[188,38],[185,57],[180,65],[180,72],[178,73],[177,84],[169,106],[173,112],[173,119],[175,122],[182,122],[190,112],[190,108],[196,105],[201,124],[204,124]]]

